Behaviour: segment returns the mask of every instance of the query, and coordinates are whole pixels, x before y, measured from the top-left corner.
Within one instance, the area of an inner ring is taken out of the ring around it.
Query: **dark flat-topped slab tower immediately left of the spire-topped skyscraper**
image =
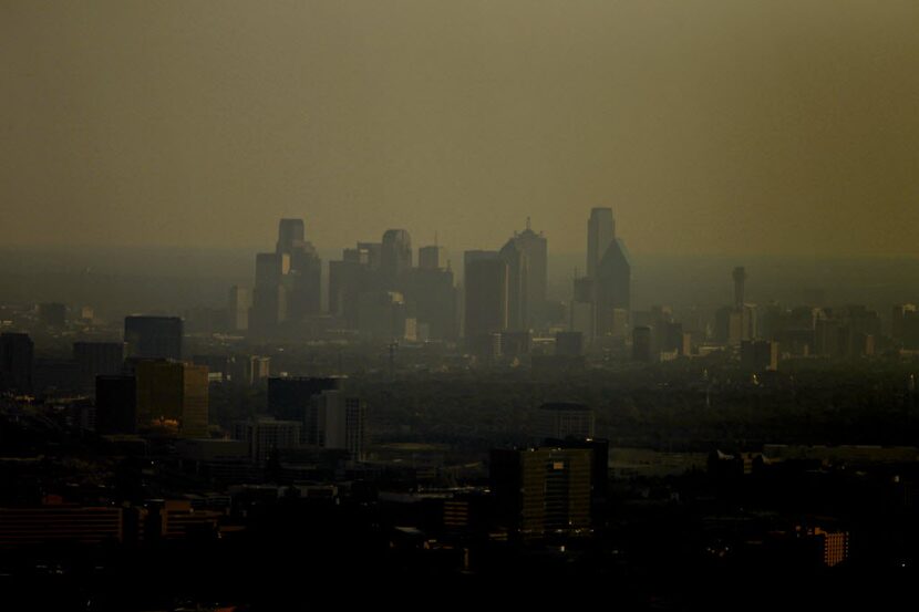
[[[466,339],[500,333],[508,321],[507,262],[495,251],[465,253]]]

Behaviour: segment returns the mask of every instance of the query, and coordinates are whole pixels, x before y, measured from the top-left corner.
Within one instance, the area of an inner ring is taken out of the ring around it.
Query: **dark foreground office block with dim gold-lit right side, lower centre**
[[[524,539],[590,530],[589,448],[493,449],[489,481],[499,520]]]

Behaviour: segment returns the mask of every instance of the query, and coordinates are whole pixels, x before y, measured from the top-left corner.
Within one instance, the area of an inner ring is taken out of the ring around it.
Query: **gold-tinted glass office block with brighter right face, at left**
[[[184,438],[207,437],[207,366],[142,360],[135,366],[141,425],[175,427]]]

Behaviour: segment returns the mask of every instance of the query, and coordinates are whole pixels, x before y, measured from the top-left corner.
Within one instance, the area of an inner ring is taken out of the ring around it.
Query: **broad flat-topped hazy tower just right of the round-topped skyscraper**
[[[456,339],[456,287],[453,282],[453,270],[412,270],[407,294],[412,298],[419,324],[426,325],[431,339]]]

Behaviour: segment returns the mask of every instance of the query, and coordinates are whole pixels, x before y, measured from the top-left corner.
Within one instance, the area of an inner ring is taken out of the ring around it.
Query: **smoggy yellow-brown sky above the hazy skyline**
[[[0,59],[0,243],[919,255],[916,0],[4,0]]]

